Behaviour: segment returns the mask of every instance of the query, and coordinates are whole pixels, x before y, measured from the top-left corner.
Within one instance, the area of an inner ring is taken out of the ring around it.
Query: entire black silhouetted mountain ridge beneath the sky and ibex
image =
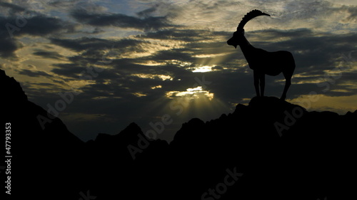
[[[43,130],[38,116],[51,116],[2,70],[0,90],[9,94],[1,120],[11,122],[14,196],[316,200],[355,190],[357,111],[307,112],[253,98],[216,120],[189,120],[170,144],[149,141],[135,123],[84,143],[56,117]]]

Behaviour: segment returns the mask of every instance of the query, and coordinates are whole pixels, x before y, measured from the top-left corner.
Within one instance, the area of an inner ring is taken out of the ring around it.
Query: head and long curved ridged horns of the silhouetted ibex
[[[238,45],[241,45],[241,42],[244,39],[244,25],[246,25],[246,23],[254,17],[261,15],[270,16],[258,10],[248,12],[238,24],[237,31],[233,33],[233,37],[227,41],[228,45],[234,46],[235,48],[237,48]]]

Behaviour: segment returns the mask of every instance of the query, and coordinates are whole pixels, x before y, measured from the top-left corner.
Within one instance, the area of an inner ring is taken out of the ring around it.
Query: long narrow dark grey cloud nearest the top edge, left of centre
[[[169,26],[164,16],[147,16],[143,19],[125,14],[90,14],[84,9],[76,9],[71,12],[80,23],[91,26],[118,26],[121,28],[136,28],[139,30],[159,30]]]

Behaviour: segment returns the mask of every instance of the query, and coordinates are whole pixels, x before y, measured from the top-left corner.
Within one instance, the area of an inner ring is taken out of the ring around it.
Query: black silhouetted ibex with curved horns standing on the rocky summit
[[[283,73],[286,82],[281,99],[285,100],[286,92],[291,85],[291,77],[295,70],[293,55],[288,51],[268,52],[261,48],[255,48],[251,46],[246,37],[244,37],[244,25],[254,17],[261,15],[270,16],[258,10],[248,12],[238,24],[237,31],[233,33],[233,37],[230,38],[227,43],[235,48],[237,48],[237,46],[241,47],[249,68],[253,70],[254,87],[256,88],[256,95],[258,97],[263,97],[264,95],[266,74],[275,76]],[[261,93],[259,93],[259,85],[261,86]]]

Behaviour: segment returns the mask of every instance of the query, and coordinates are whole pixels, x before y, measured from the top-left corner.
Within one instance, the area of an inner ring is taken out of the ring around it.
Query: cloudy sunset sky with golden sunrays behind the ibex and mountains
[[[288,102],[357,109],[356,0],[1,0],[0,68],[45,110],[65,96],[59,117],[84,141],[131,122],[147,132],[163,116],[158,137],[171,141],[183,122],[256,95],[241,49],[226,43],[253,9],[271,16],[246,24],[248,41],[295,57]],[[266,76],[266,95],[280,98],[283,85]]]

